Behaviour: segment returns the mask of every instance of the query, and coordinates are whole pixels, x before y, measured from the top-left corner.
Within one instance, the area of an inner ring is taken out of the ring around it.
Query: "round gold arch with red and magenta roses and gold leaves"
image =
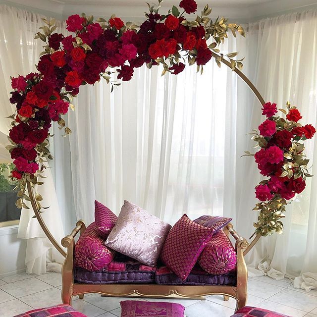
[[[255,154],[260,173],[267,177],[256,186],[256,196],[261,201],[254,210],[259,211],[255,223],[255,238],[245,253],[254,246],[261,236],[273,232],[281,233],[285,206],[305,188],[305,179],[312,175],[307,169],[304,144],[312,138],[315,128],[302,126],[300,112],[287,104],[279,109],[286,117],[276,116],[276,104],[265,103],[264,99],[240,71],[242,59],[235,59],[237,53],[222,54],[219,44],[227,38],[228,32],[236,37],[245,35],[243,28],[227,19],[212,21],[211,8],[206,5],[195,19],[187,19],[184,13],[197,11],[195,0],[181,0],[179,7],[173,6],[166,15],[159,14],[158,5],[150,5],[145,21],[137,26],[124,23],[112,15],[94,22],[93,16],[78,14],[67,20],[67,30],[74,35],[64,37],[54,33],[54,19],[43,19],[45,25],[36,38],[41,39],[44,52],[37,64],[37,73],[11,78],[13,92],[10,103],[16,106],[9,132],[11,145],[7,146],[15,168],[11,177],[18,180],[19,192],[16,206],[28,208],[25,200],[30,201],[44,232],[54,247],[65,256],[65,252],[53,238],[41,217],[42,197],[34,192],[35,185],[42,185],[40,176],[46,168],[48,159],[53,159],[48,149],[49,129],[56,121],[65,135],[71,130],[65,126],[62,115],[71,100],[79,93],[79,87],[94,84],[103,77],[112,85],[120,85],[119,80],[129,81],[137,67],[146,64],[148,68],[162,64],[162,75],[169,72],[177,75],[188,65],[197,66],[203,73],[204,65],[211,59],[220,67],[224,63],[236,72],[252,89],[263,106],[265,121],[254,130],[253,140],[260,150]],[[112,91],[111,89],[111,91]],[[246,156],[253,156],[245,152]]]

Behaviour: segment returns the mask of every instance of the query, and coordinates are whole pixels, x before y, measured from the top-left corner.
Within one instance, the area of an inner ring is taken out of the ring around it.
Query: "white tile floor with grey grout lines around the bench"
[[[0,279],[0,317],[12,317],[33,308],[61,303],[61,275],[47,273],[40,276],[19,273]],[[292,317],[317,317],[317,291],[306,293],[293,288],[288,279],[275,281],[267,276],[249,279],[248,305],[262,307]],[[88,317],[118,317],[119,302],[123,298],[85,295],[83,300],[73,298],[72,305]],[[148,299],[164,301],[163,299]],[[170,300],[186,307],[188,317],[229,317],[234,313],[235,300],[228,302],[222,296],[212,295],[205,301]]]

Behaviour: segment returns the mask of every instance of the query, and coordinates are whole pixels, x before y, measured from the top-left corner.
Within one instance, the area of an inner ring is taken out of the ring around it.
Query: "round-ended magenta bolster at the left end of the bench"
[[[109,264],[115,251],[105,246],[97,231],[96,223],[91,223],[75,244],[75,266],[96,271]]]

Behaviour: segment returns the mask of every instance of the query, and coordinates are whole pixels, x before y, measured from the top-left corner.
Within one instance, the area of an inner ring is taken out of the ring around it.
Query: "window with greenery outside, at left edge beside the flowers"
[[[15,206],[17,200],[15,182],[8,177],[13,164],[0,164],[0,227],[18,224],[21,210]]]

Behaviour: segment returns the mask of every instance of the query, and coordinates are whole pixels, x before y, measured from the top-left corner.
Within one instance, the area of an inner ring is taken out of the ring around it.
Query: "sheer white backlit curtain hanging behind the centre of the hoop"
[[[240,41],[244,56],[247,41]],[[223,49],[235,52],[236,40]],[[235,216],[246,86],[214,62],[203,75],[193,66],[160,74],[159,67],[137,69],[111,94],[103,81],[84,86],[68,114],[74,201],[87,223],[95,198],[116,213],[127,199],[171,223],[183,212]]]

